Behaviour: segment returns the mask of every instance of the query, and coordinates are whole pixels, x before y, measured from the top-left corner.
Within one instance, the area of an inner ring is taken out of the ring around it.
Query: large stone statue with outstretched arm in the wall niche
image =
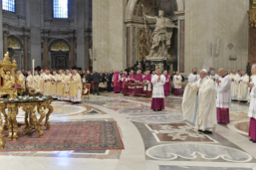
[[[144,14],[145,17],[156,21],[155,30],[152,32],[151,51],[146,57],[147,59],[170,57],[168,50],[171,47],[173,28],[177,28],[177,26],[169,18],[165,18],[164,14],[165,12],[162,10],[159,11],[159,16],[156,17]]]

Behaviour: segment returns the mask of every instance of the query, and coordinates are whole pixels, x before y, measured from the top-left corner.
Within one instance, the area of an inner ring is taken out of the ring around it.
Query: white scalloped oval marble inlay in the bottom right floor
[[[196,159],[196,154],[205,160],[219,158],[230,162],[249,162],[252,156],[238,149],[213,144],[162,144],[149,148],[147,156],[156,160]]]

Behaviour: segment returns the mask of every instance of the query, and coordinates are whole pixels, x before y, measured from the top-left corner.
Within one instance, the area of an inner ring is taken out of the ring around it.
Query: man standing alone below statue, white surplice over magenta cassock
[[[162,109],[165,109],[164,85],[166,79],[165,75],[161,75],[160,69],[156,70],[156,75],[152,75],[151,83],[153,85],[151,109],[153,111],[162,111]]]

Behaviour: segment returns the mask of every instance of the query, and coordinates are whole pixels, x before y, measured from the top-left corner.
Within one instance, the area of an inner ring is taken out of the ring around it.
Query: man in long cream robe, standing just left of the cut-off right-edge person
[[[238,85],[238,101],[246,103],[248,100],[248,86],[249,76],[246,75],[246,71],[242,71],[242,77],[239,79]]]

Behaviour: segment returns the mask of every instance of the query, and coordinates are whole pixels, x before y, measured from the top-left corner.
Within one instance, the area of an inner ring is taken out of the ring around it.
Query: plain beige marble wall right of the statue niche
[[[185,74],[193,67],[246,70],[249,2],[185,1]],[[230,61],[230,56],[237,59]]]

